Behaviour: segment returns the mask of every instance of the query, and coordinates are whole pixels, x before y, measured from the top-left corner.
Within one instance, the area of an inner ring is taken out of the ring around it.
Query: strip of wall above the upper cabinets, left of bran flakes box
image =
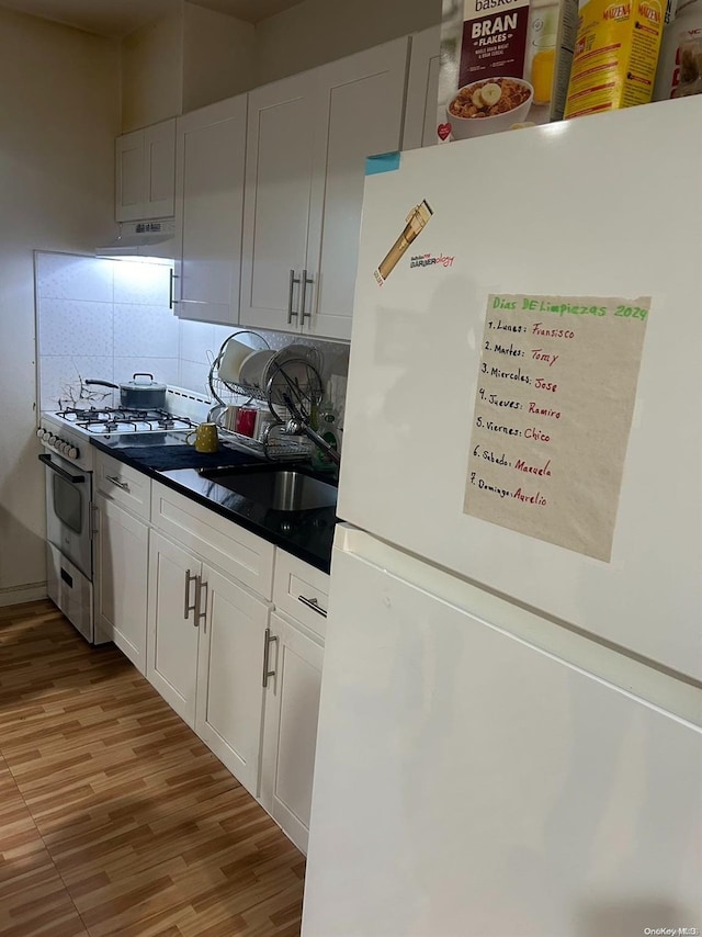
[[[256,27],[256,84],[441,22],[441,0],[304,0]]]

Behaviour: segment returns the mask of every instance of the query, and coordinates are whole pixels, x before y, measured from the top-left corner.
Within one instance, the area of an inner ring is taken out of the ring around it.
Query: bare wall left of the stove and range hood
[[[116,43],[0,9],[0,605],[41,595],[33,250],[91,249],[113,216]]]

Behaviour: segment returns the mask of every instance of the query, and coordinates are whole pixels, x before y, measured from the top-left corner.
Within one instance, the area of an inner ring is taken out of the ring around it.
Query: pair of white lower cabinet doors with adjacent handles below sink
[[[147,677],[254,797],[269,611],[264,599],[152,532]]]

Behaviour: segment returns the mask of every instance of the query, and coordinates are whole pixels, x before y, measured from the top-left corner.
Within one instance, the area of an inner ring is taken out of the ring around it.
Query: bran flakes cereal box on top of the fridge
[[[578,0],[444,0],[441,143],[563,117]]]

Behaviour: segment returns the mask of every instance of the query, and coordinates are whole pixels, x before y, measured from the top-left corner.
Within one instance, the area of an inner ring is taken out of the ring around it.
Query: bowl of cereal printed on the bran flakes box
[[[534,89],[522,78],[486,78],[464,84],[446,108],[453,138],[508,131],[524,121],[533,100]]]

